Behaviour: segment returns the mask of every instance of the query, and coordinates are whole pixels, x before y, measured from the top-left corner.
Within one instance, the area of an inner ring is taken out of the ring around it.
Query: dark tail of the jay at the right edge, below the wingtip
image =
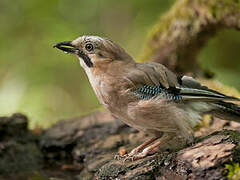
[[[214,102],[213,114],[220,119],[232,120],[240,123],[240,106],[230,102]]]

